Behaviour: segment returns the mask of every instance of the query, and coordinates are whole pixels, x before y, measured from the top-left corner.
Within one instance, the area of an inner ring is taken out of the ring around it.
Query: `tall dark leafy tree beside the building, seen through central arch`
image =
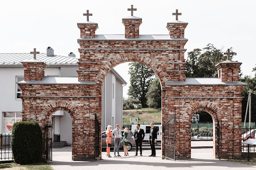
[[[134,99],[138,99],[143,108],[147,107],[146,93],[148,92],[149,85],[156,77],[154,72],[141,63],[129,64],[129,75],[131,85],[129,86],[128,95]]]

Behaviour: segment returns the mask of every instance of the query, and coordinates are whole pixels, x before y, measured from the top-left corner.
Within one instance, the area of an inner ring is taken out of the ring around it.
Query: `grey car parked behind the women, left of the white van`
[[[111,130],[111,132],[112,132],[112,130]],[[122,137],[124,137],[124,135],[123,135],[124,130],[121,130],[121,132],[122,132]],[[107,139],[107,135],[106,135],[106,131],[104,131],[101,133],[101,148],[102,148],[102,150],[107,149],[106,139]],[[110,149],[114,149],[114,146],[115,146],[115,139],[112,137]],[[133,133],[132,133],[132,131],[129,131],[128,146],[127,146],[128,151],[130,151],[132,149],[132,147],[135,147],[135,146],[136,146],[136,144],[135,144]],[[122,142],[120,142],[119,149],[123,149]]]

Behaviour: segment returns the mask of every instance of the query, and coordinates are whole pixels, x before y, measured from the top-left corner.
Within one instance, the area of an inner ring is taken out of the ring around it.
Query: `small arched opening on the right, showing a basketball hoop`
[[[215,158],[217,116],[208,108],[198,108],[191,116],[190,153],[191,158]]]

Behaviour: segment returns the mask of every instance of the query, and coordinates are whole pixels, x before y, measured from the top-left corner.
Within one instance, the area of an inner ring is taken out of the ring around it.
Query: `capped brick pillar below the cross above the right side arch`
[[[217,64],[218,78],[222,82],[239,81],[239,67],[242,63],[226,60]]]

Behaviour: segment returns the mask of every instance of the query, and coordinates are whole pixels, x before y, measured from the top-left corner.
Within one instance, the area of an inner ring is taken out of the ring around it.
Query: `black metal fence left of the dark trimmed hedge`
[[[12,135],[10,133],[0,134],[0,147],[1,147],[0,161],[8,161],[13,159],[11,137]]]

